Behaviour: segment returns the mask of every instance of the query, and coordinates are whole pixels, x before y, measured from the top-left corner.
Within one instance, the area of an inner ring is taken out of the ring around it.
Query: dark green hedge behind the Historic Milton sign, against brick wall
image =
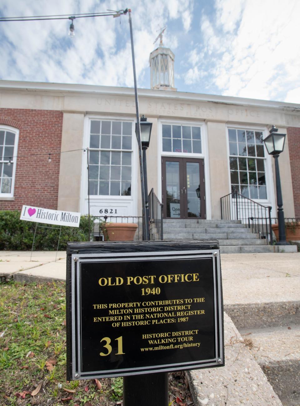
[[[34,240],[35,251],[56,251],[59,227],[41,224],[37,227]],[[90,218],[92,230],[93,220]],[[32,248],[36,222],[20,220],[17,210],[0,211],[0,250],[28,251]],[[88,241],[88,216],[81,216],[79,227],[62,227],[58,249],[64,251],[68,241]]]

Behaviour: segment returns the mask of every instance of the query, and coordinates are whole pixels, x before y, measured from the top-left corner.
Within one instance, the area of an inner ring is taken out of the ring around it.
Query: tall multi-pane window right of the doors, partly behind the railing
[[[229,129],[231,192],[267,199],[262,131]]]

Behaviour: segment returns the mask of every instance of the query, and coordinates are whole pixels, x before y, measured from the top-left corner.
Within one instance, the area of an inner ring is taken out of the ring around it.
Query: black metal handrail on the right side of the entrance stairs
[[[272,245],[271,210],[271,206],[261,205],[237,192],[221,197],[222,220],[239,220]]]

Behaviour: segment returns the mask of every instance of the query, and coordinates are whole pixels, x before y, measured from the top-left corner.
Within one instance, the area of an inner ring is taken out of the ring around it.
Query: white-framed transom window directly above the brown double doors
[[[163,124],[163,151],[201,153],[200,127]]]

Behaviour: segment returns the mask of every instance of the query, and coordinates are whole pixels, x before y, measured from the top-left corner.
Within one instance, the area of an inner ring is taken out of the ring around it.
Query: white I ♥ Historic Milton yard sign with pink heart
[[[80,213],[24,205],[22,207],[20,220],[56,224],[59,226],[79,227]]]

